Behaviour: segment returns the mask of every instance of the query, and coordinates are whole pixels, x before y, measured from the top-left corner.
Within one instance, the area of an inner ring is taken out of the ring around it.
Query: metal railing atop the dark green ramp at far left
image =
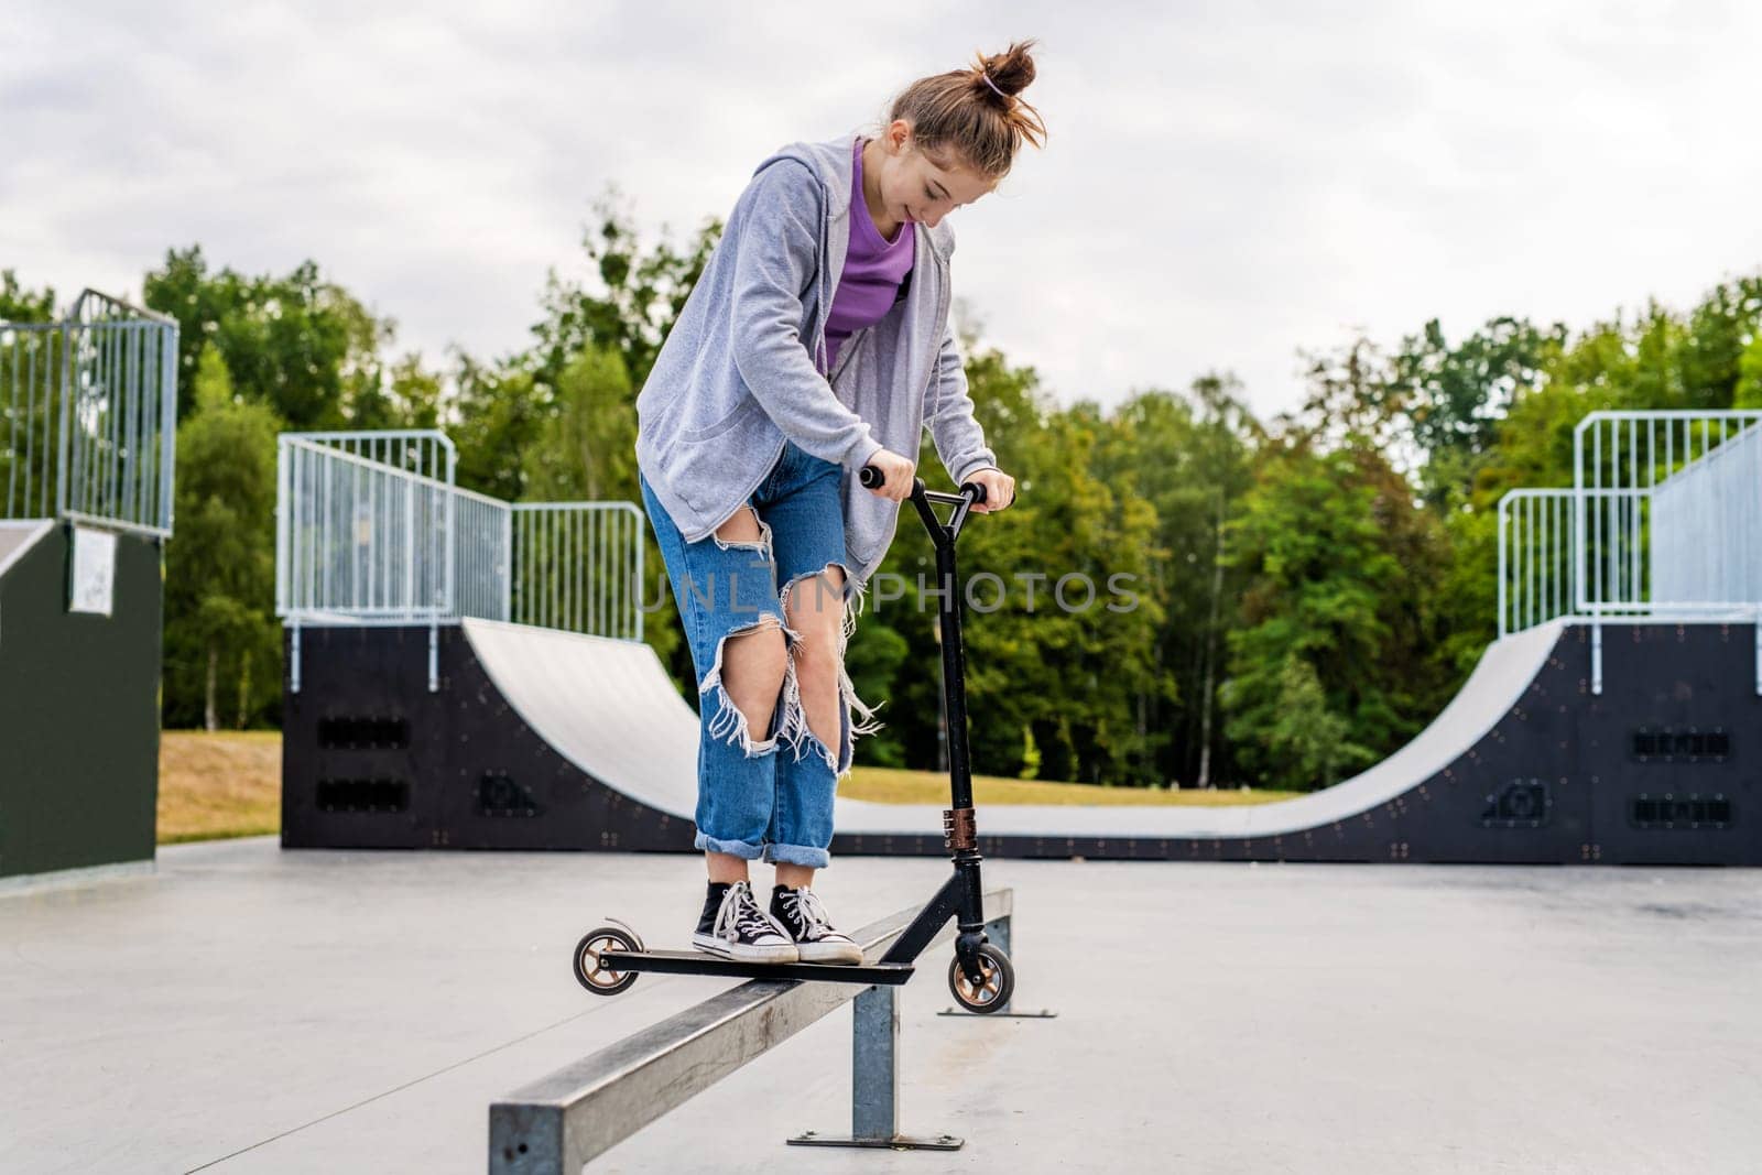
[[[60,322],[0,322],[0,518],[169,537],[178,324],[85,291]]]

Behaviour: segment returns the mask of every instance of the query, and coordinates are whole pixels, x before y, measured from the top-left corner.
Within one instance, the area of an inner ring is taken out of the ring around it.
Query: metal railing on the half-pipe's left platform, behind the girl
[[[631,502],[509,504],[453,484],[433,430],[282,433],[275,615],[303,624],[463,617],[643,638],[643,514]]]

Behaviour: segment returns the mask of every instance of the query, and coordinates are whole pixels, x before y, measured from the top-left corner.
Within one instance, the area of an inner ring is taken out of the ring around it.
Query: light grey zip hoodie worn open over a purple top
[[[914,458],[929,426],[955,484],[997,458],[948,326],[946,218],[911,225],[904,298],[823,375],[851,240],[853,141],[793,143],[759,164],[636,396],[636,463],[687,543],[752,497],[786,439],[842,465],[846,565],[862,587],[899,525],[899,507],[856,481],[876,451]]]

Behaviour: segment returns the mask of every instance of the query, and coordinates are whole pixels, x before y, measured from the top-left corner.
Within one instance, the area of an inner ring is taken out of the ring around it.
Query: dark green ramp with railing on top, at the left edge
[[[0,891],[150,872],[178,326],[0,321]]]

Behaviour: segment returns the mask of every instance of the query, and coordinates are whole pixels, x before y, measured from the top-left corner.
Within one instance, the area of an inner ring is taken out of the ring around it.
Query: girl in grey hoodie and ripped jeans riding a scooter
[[[1015,497],[948,326],[944,218],[996,188],[1024,139],[1041,146],[1017,97],[1033,44],[914,81],[874,137],[759,164],[636,398],[638,481],[703,717],[700,950],[862,962],[809,888],[830,865],[851,742],[876,729],[844,648],[925,426],[955,484],[985,486],[976,511]],[[886,483],[863,490],[863,465]],[[768,911],[752,860],[777,867]]]

